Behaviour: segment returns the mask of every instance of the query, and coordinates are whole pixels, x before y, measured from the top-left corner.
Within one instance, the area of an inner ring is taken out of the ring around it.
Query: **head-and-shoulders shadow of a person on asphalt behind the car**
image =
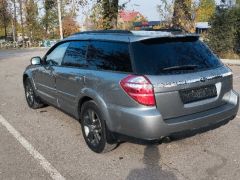
[[[143,163],[145,165],[145,168],[132,170],[126,179],[127,180],[133,180],[133,179],[175,180],[177,179],[172,172],[163,170],[161,165],[159,165],[159,162],[160,162],[160,154],[159,154],[157,145],[147,145],[144,150],[144,157],[143,157]]]

